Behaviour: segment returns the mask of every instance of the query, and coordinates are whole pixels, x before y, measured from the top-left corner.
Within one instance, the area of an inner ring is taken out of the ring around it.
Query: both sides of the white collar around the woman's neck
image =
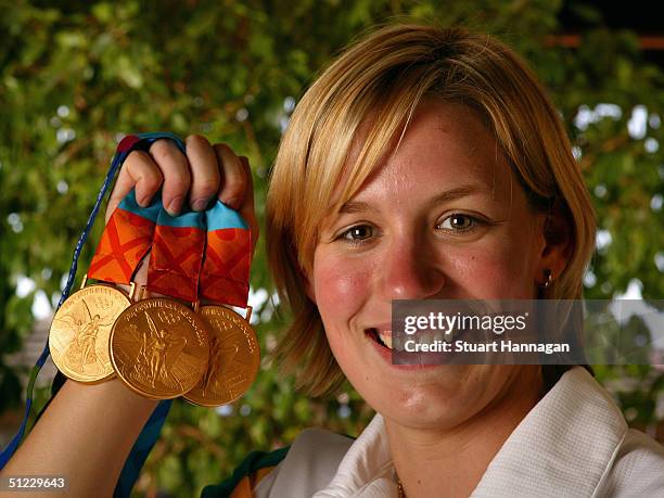
[[[586,369],[572,368],[508,437],[471,496],[592,496],[626,431],[611,396]],[[385,423],[376,413],[315,498],[397,494]]]

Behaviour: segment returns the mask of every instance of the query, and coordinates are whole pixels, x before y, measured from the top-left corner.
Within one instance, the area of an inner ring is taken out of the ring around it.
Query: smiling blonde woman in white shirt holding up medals
[[[132,153],[110,212],[133,187],[146,204],[162,178],[173,213],[218,193],[255,240],[251,170],[228,146]],[[410,25],[355,44],[293,114],[267,246],[295,317],[282,365],[315,395],[347,378],[378,414],[355,442],[305,431],[204,495],[664,496],[664,450],[583,367],[391,362],[393,299],[579,298],[593,240],[560,118],[510,49]],[[154,406],[117,381],[67,382],[5,472],[108,495]]]

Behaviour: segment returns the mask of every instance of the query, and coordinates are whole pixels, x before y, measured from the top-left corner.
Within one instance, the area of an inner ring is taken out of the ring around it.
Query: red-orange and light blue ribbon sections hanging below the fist
[[[158,195],[141,207],[131,191],[113,212],[88,277],[128,284],[148,251],[150,291],[246,307],[251,231],[238,212],[220,201],[205,213],[170,216]]]

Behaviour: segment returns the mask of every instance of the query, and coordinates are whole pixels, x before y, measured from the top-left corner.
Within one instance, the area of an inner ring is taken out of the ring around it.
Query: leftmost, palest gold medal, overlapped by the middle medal
[[[53,317],[49,349],[67,378],[95,383],[113,376],[108,337],[117,317],[131,302],[110,285],[91,285],[72,294]]]

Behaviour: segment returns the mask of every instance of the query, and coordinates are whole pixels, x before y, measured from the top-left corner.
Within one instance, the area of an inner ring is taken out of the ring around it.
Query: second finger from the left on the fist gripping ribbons
[[[164,175],[162,202],[169,215],[180,213],[189,186],[191,174],[184,154],[170,140],[156,140],[150,146],[150,155]]]

